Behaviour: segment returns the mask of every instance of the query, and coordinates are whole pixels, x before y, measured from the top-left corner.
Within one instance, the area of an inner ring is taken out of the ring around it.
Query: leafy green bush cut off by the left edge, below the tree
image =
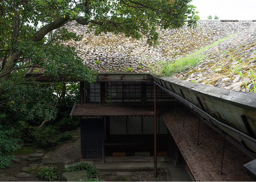
[[[15,131],[12,128],[0,125],[0,168],[5,168],[11,164],[11,160],[15,160],[13,151],[20,148],[18,139],[14,139]]]

